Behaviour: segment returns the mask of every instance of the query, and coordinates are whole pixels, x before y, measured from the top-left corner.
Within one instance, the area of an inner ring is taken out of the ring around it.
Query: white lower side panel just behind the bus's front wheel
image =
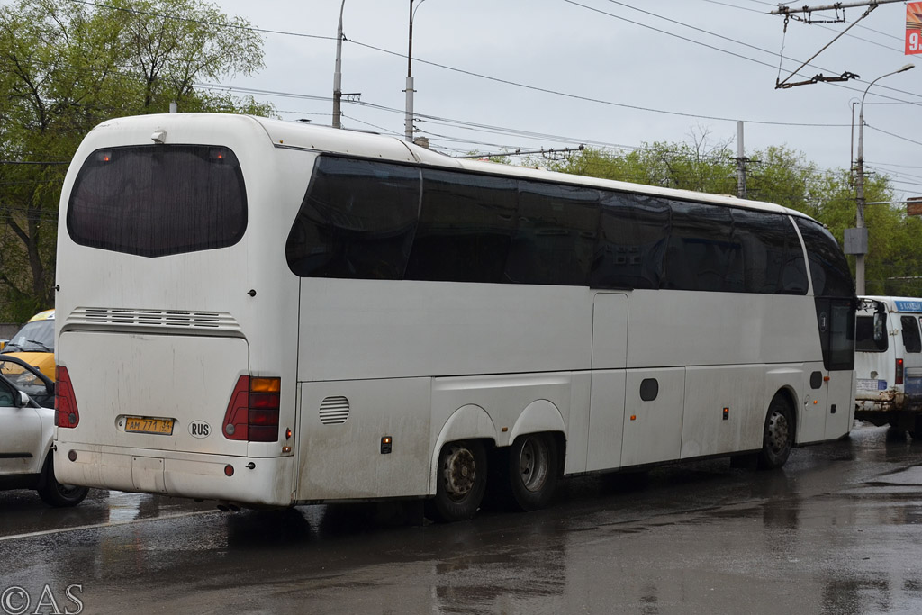
[[[763,365],[688,368],[682,458],[760,448],[770,401]]]

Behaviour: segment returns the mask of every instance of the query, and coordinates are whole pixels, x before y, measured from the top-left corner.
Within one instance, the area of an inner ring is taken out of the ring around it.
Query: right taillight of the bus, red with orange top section
[[[229,440],[278,441],[279,378],[241,376],[231,393],[221,432]]]

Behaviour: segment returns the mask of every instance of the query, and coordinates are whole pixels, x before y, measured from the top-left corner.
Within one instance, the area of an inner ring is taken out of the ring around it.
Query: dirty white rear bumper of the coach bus
[[[58,482],[242,506],[289,506],[293,457],[240,457],[57,441]]]

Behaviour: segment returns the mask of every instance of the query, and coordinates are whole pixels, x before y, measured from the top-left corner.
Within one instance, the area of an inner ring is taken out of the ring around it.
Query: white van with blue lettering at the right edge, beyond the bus
[[[860,300],[855,418],[922,436],[922,299]]]

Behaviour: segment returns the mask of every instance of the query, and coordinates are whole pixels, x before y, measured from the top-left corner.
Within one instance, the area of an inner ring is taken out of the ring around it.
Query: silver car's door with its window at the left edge
[[[19,407],[19,395],[0,376],[0,478],[41,469],[41,418],[38,408]]]

